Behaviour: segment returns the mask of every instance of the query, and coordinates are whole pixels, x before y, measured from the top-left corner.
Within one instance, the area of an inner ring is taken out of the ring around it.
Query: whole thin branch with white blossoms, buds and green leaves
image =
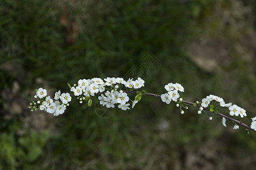
[[[118,104],[118,108],[126,111],[130,109],[128,101],[132,102],[131,108],[134,108],[135,104],[138,103],[142,99],[142,96],[155,96],[160,97],[162,101],[166,104],[170,104],[171,101],[175,101],[176,107],[180,108],[180,113],[184,114],[183,108],[188,109],[188,107],[184,106],[184,104],[193,105],[194,107],[198,107],[198,114],[207,114],[206,111],[218,114],[222,117],[222,124],[226,127],[226,120],[229,120],[234,123],[233,129],[239,129],[238,125],[244,126],[246,131],[252,130],[256,132],[256,117],[251,118],[251,126],[246,125],[242,121],[238,121],[233,116],[240,116],[241,118],[247,116],[245,109],[238,107],[236,104],[225,103],[225,101],[218,96],[209,95],[206,98],[202,99],[201,102],[196,101],[196,103],[192,103],[190,101],[185,101],[180,97],[179,92],[184,92],[183,86],[179,83],[168,83],[164,88],[167,93],[158,95],[148,93],[144,90],[138,91],[139,88],[144,86],[144,80],[138,78],[137,80],[128,79],[123,80],[123,78],[105,78],[105,82],[100,78],[93,79],[80,79],[78,84],[74,84],[73,87],[68,83],[68,87],[71,92],[61,94],[60,91],[55,93],[54,99],[51,99],[50,96],[47,96],[47,91],[43,88],[39,88],[36,90],[36,95],[34,96],[37,101],[32,101],[30,103],[31,111],[34,111],[38,108],[40,110],[44,110],[48,113],[53,113],[54,116],[58,116],[59,114],[63,114],[66,107],[69,106],[69,102],[72,100],[72,97],[77,96],[77,99],[80,100],[82,104],[83,101],[88,101],[89,107],[92,105],[92,101],[98,95],[98,100],[100,100],[101,105],[105,105],[107,108],[114,108],[115,104]],[[125,86],[125,88],[129,88],[130,90],[121,90],[121,86]],[[131,100],[127,94],[136,94],[134,100]],[[218,112],[218,107],[227,107],[229,108],[229,114],[232,117],[226,116]],[[210,120],[212,120],[211,116],[208,116]]]

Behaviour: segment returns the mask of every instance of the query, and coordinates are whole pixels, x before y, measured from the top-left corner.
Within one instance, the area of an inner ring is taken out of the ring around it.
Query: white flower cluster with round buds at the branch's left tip
[[[59,114],[63,114],[66,107],[69,105],[69,101],[71,101],[72,97],[68,93],[61,94],[60,91],[55,93],[54,99],[51,99],[50,96],[47,96],[46,89],[42,87],[36,91],[36,95],[34,96],[37,101],[33,101],[30,103],[31,111],[34,111],[40,108],[41,111],[46,111],[48,113],[53,113],[54,116],[58,116]]]

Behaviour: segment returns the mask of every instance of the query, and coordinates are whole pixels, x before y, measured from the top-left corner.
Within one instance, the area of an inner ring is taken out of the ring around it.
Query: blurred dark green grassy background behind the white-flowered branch
[[[184,100],[218,95],[256,113],[256,3],[250,0],[0,1],[0,169],[254,169],[256,134],[144,96],[134,109],[75,98],[61,116],[30,112],[35,88],[129,76]],[[157,65],[148,63],[147,53]],[[145,60],[146,59],[146,60]],[[228,114],[227,110],[221,111]],[[109,116],[111,113],[111,116]]]

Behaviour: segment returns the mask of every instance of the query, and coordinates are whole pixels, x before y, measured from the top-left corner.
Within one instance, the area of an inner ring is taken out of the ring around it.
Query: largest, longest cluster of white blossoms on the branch
[[[127,103],[130,99],[126,92],[119,89],[121,84],[131,90],[137,90],[144,86],[144,80],[141,78],[138,78],[137,80],[129,78],[126,81],[123,78],[114,77],[107,77],[104,80],[101,78],[80,79],[78,84],[74,84],[74,86],[71,87],[71,91],[75,96],[78,96],[77,99],[80,99],[80,103],[82,103],[82,100],[91,101],[90,97],[97,94],[100,95],[98,96],[98,99],[100,100],[101,105],[106,105],[107,108],[114,108],[114,105],[118,104],[118,108],[126,111],[127,109],[130,109],[130,104]],[[104,92],[105,90],[107,91]],[[137,102],[133,101],[132,107],[134,107]]]

